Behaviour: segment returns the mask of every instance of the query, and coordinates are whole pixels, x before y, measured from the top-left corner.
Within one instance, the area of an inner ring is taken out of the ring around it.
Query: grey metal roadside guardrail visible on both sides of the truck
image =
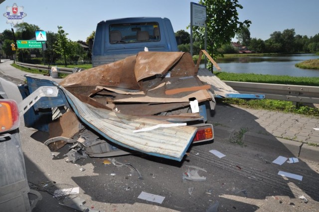
[[[46,65],[33,65],[28,63],[15,62],[17,65],[35,68],[39,70],[48,70]],[[58,73],[72,74],[77,72],[78,68],[58,67]],[[303,102],[319,104],[319,87],[303,85],[283,85],[267,84],[253,82],[235,82],[223,81],[240,93],[265,94],[266,99],[285,100],[291,102]]]

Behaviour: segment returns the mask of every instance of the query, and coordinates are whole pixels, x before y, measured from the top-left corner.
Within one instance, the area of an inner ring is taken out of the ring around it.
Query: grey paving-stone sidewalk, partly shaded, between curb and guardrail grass
[[[217,104],[211,122],[239,131],[319,145],[319,119],[304,115]]]

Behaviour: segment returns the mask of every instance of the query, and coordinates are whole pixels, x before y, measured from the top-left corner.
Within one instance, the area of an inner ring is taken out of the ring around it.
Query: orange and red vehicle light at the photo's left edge
[[[19,127],[19,110],[14,100],[0,100],[0,133]]]

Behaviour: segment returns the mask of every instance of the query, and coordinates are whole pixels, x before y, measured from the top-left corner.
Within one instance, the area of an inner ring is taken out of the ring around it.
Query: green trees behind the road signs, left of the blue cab
[[[15,43],[15,40],[31,40],[35,38],[35,31],[41,31],[40,27],[27,22],[18,23],[13,26],[12,30],[5,29],[0,34],[0,42],[2,42],[2,51],[7,56],[16,55],[16,59],[20,62],[47,64],[62,64],[65,67],[79,60],[91,60],[90,51],[85,51],[83,47],[76,41],[67,38],[62,26],[57,26],[58,31],[46,32],[45,48],[18,48],[12,50],[10,44]],[[14,30],[15,29],[15,30]],[[14,33],[13,33],[14,32]],[[93,34],[93,33],[92,33]],[[94,37],[94,34],[90,36]],[[89,37],[90,37],[89,36]],[[31,58],[35,55],[35,58]],[[44,61],[43,61],[44,60]]]

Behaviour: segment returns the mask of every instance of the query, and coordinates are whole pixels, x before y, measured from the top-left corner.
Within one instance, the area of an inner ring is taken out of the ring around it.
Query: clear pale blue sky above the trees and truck
[[[23,21],[38,25],[41,30],[57,32],[62,26],[73,41],[83,40],[102,20],[121,17],[167,17],[174,31],[185,30],[190,23],[190,2],[197,0],[4,0],[0,13],[13,3],[23,6]],[[296,34],[314,36],[319,33],[319,0],[238,0],[240,21],[252,21],[252,38],[266,40],[274,31],[295,29]],[[10,29],[6,17],[0,16],[0,32]],[[234,38],[233,41],[236,41]]]

